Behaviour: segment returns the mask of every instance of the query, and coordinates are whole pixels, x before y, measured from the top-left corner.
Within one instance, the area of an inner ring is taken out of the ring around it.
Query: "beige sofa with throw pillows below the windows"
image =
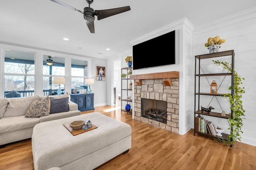
[[[70,101],[70,95],[50,96],[50,99],[53,99],[51,97],[54,97],[55,101],[68,97],[67,109],[58,113],[56,109],[63,110],[63,106],[52,105],[52,108],[55,108],[54,113],[41,117],[25,117],[33,101],[36,99],[43,100],[46,97],[35,95],[0,99],[0,146],[31,138],[33,128],[38,123],[81,115],[78,105]]]

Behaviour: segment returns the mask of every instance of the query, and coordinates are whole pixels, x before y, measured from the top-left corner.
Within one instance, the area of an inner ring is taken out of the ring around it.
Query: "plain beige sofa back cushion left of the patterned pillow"
[[[8,98],[9,104],[6,107],[4,117],[26,115],[31,103],[40,99],[38,95],[29,97]]]

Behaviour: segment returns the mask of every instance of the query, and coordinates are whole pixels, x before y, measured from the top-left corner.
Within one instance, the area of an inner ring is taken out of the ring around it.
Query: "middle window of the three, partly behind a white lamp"
[[[43,55],[43,60],[44,96],[56,95],[56,91],[58,90],[59,86],[58,84],[54,84],[54,77],[65,76],[65,58],[52,55]],[[64,90],[64,84],[61,84],[60,88]]]

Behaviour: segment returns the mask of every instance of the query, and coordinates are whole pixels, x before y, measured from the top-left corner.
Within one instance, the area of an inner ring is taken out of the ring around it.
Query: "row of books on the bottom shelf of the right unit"
[[[202,115],[196,117],[196,132],[209,133],[210,135],[216,135],[214,124],[204,119]]]

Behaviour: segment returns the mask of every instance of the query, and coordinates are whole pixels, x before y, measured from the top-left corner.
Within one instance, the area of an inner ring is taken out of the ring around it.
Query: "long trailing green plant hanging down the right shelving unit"
[[[212,60],[215,64],[219,65],[220,67],[223,67],[224,69],[228,70],[229,72],[232,72],[232,64],[228,62],[223,62],[223,61],[214,61]],[[231,113],[229,113],[230,117],[228,118],[228,123],[229,123],[229,130],[231,130],[231,134],[228,135],[227,140],[224,140],[222,138],[219,138],[220,142],[222,144],[227,144],[231,145],[233,144],[236,140],[240,140],[241,135],[240,133],[243,133],[242,126],[242,119],[244,118],[244,109],[242,105],[242,94],[245,93],[244,87],[241,87],[242,80],[244,78],[241,78],[238,73],[233,70],[233,75],[234,75],[234,85],[233,85],[233,96],[230,93],[227,93],[224,95],[226,99],[230,103],[230,109],[233,111],[233,117],[231,117]],[[230,86],[228,89],[232,89],[232,86]]]

